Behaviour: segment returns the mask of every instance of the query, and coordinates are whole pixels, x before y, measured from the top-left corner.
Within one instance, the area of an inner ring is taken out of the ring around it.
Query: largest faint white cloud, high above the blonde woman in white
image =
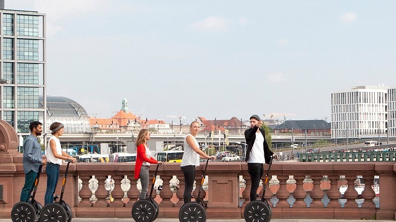
[[[229,28],[228,21],[222,16],[209,16],[206,19],[191,25],[197,31],[222,32]]]

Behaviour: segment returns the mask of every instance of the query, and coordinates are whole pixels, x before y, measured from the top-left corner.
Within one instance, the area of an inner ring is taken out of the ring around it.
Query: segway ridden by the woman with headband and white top
[[[69,165],[71,162],[72,160],[67,160],[67,167],[65,175],[63,176],[62,191],[60,193],[59,201],[47,204],[43,209],[41,209],[40,222],[71,222],[73,212],[71,211],[70,206],[63,201],[67,172],[69,171]]]

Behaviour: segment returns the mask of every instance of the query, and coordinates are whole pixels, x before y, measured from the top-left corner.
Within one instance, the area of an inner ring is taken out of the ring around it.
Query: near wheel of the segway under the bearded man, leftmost
[[[12,222],[34,222],[36,216],[36,209],[28,202],[16,203],[11,210]]]

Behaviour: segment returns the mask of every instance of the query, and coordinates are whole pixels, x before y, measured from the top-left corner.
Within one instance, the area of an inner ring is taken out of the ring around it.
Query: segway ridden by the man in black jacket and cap
[[[263,187],[263,196],[261,200],[253,200],[248,203],[245,207],[244,211],[244,218],[246,222],[269,222],[271,221],[272,211],[271,207],[269,206],[267,200],[264,198],[265,196],[265,189],[267,188],[268,178],[269,178],[269,171],[271,169],[272,160],[274,157],[271,157],[271,160],[268,165],[268,172],[265,175],[264,187]]]

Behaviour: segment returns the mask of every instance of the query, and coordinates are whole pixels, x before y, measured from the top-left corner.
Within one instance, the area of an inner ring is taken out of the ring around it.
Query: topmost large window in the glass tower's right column
[[[16,35],[17,36],[39,36],[39,17],[33,15],[16,16]]]

